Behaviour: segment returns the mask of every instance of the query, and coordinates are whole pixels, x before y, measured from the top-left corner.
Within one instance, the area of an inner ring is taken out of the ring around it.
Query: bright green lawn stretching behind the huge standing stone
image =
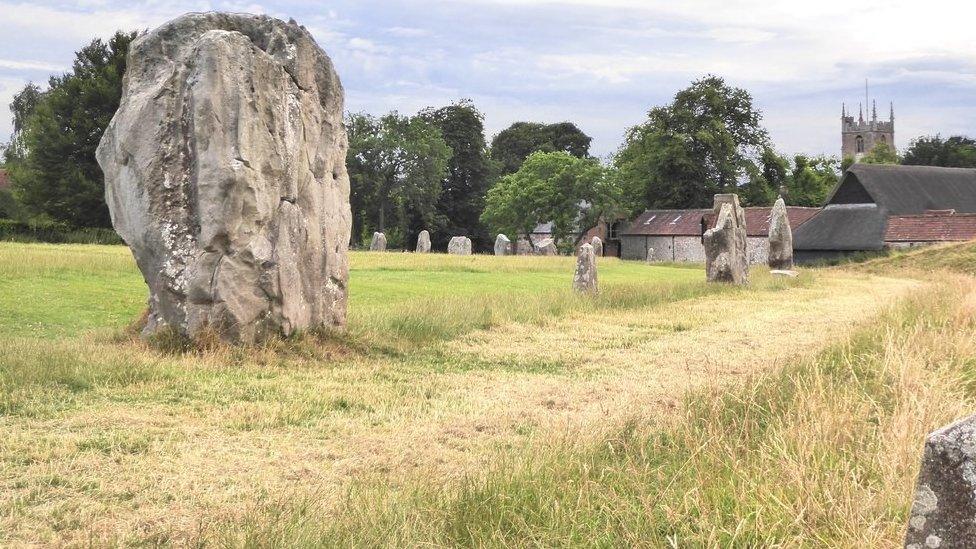
[[[372,339],[443,339],[573,308],[574,259],[350,254],[349,330]],[[616,295],[701,284],[700,269],[601,260]],[[120,246],[0,242],[0,337],[54,339],[118,330],[145,309],[147,290]],[[378,335],[381,334],[381,335]],[[373,337],[375,336],[375,337]]]

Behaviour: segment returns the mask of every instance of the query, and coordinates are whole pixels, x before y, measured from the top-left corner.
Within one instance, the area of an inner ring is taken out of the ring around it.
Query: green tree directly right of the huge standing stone
[[[405,243],[411,219],[432,222],[451,149],[440,130],[422,117],[392,112],[382,118],[346,119],[353,235],[387,232],[391,245]]]

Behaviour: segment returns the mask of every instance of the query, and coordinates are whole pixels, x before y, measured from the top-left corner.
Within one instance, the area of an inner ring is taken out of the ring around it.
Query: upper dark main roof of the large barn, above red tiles
[[[864,191],[891,215],[976,213],[976,169],[858,163],[844,173],[827,203],[867,202]]]

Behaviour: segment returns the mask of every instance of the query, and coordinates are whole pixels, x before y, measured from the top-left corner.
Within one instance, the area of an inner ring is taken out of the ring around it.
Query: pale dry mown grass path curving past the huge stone
[[[352,479],[446,481],[508,448],[635,413],[666,419],[685,391],[815,352],[919,285],[822,272],[790,289],[496,327],[399,358],[143,357],[163,373],[69,393],[64,411],[0,416],[0,541],[180,543],[282,498],[338,503]],[[52,362],[132,360],[98,341],[33,345]]]

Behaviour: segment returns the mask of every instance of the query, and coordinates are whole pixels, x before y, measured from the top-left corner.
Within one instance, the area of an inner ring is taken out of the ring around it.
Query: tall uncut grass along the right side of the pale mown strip
[[[733,391],[517,448],[458,483],[360,483],[323,516],[278,500],[202,539],[227,545],[881,547],[899,545],[924,435],[976,404],[972,279]]]

